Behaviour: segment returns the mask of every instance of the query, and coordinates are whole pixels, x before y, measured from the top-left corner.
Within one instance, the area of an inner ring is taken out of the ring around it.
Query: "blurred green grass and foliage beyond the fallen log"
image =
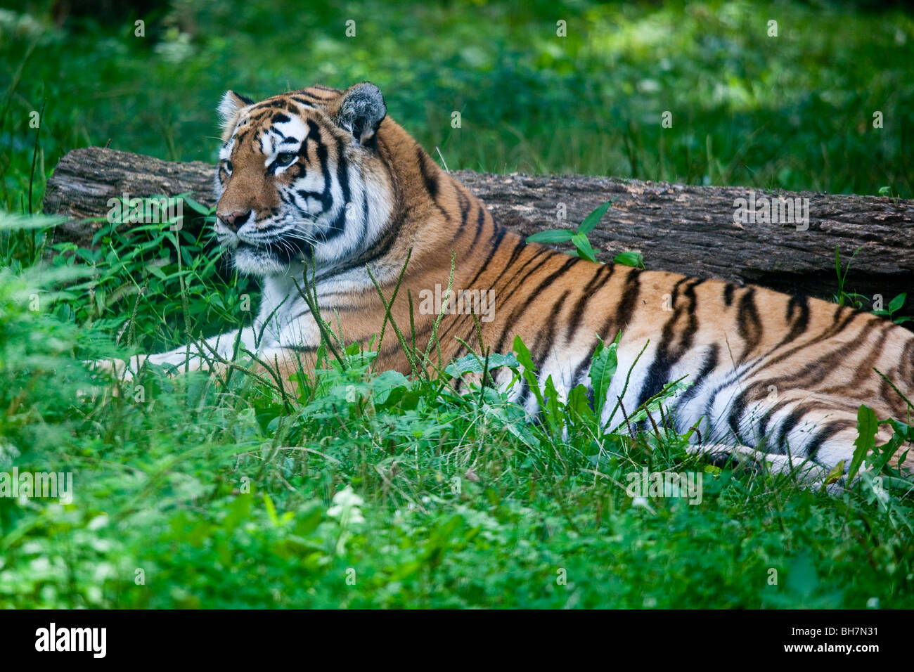
[[[372,80],[391,116],[452,168],[911,194],[914,19],[894,7],[149,4],[158,6],[115,4],[101,22],[69,16],[60,28],[48,27],[42,4],[3,15],[0,59],[7,88],[16,84],[5,162],[30,162],[27,114],[45,99],[42,175],[74,146],[108,140],[212,160],[213,111],[229,87],[256,98]],[[134,37],[141,17],[146,37]],[[557,37],[559,19],[568,37]],[[767,37],[772,19],[778,37]],[[347,20],[356,37],[345,37]],[[664,111],[672,129],[660,126]],[[21,183],[4,172],[12,208]]]

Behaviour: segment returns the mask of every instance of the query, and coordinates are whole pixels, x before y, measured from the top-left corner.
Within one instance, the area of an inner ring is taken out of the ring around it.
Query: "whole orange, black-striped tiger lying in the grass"
[[[595,347],[618,336],[620,373],[600,420],[609,422],[617,405],[623,412],[612,426],[621,427],[626,411],[685,379],[668,411],[676,431],[698,429],[695,450],[727,445],[820,474],[843,462],[846,474],[861,404],[882,419],[909,418],[914,334],[903,327],[802,294],[594,263],[528,243],[387,112],[367,81],[256,102],[225,93],[214,230],[238,272],[262,283],[258,315],[194,347],[136,357],[131,370],[145,362],[207,368],[213,356],[243,349],[291,378],[314,367],[326,324],[346,344],[374,344],[376,370],[404,374],[477,347],[505,354],[519,336],[538,380],[551,377],[561,400],[583,384],[592,404]],[[493,300],[484,315],[473,305],[454,309],[452,293],[438,302],[443,310],[423,306],[433,288]],[[407,336],[435,361],[408,357],[398,338],[378,343],[393,324],[414,330]],[[495,369],[490,384],[536,418],[536,396],[529,385],[510,386],[512,375]],[[880,425],[878,441],[889,432]]]

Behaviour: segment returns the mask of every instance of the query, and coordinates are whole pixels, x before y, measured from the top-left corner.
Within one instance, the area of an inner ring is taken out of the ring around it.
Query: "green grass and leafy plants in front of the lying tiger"
[[[23,219],[8,219],[5,240],[21,243]],[[30,230],[40,250],[45,230]],[[582,395],[527,425],[491,390],[460,397],[435,378],[369,376],[353,352],[347,368],[328,357],[292,396],[269,379],[160,370],[112,395],[81,364],[123,356],[112,331],[129,333],[129,315],[154,323],[171,296],[175,312],[183,298],[193,306],[197,333],[200,297],[226,285],[197,272],[207,263],[185,275],[165,265],[155,297],[93,303],[93,282],[152,275],[135,257],[123,264],[145,249],[135,236],[110,245],[91,267],[0,274],[0,471],[69,472],[75,492],[71,503],[0,497],[0,604],[914,605],[909,479],[867,474],[828,496],[710,466],[664,429],[656,403],[658,428],[633,438],[601,432]],[[603,385],[625,373],[610,351],[591,370]],[[700,503],[633,498],[626,484],[644,468],[700,474]]]

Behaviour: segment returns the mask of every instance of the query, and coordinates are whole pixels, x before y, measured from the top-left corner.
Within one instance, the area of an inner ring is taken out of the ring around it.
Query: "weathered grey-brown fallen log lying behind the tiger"
[[[735,221],[745,187],[690,187],[665,182],[587,176],[452,173],[481,197],[494,218],[527,236],[575,228],[601,203],[612,207],[590,234],[598,260],[641,251],[648,269],[756,283],[784,292],[828,297],[837,289],[835,247],[843,261],[856,256],[845,290],[887,303],[914,290],[914,200],[756,190],[760,198],[808,198],[808,228],[797,223]],[[200,161],[174,163],[101,147],[65,155],[48,180],[45,212],[66,215],[57,240],[89,246],[109,198],[189,192],[212,206],[214,168]],[[802,201],[801,201],[802,203]],[[564,208],[566,219],[559,219]],[[566,246],[561,246],[566,247]]]

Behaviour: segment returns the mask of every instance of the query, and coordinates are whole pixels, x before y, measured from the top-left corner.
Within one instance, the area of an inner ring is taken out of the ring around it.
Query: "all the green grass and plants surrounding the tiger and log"
[[[211,160],[225,88],[362,79],[452,169],[911,194],[914,28],[896,12],[581,4],[561,42],[545,3],[200,6],[187,48],[132,21],[0,15],[0,206],[27,212],[46,99],[33,210],[73,147]],[[635,437],[579,398],[527,424],[491,392],[369,376],[354,353],[296,395],[159,370],[112,394],[83,360],[239,325],[256,286],[190,227],[103,228],[81,250],[50,223],[0,216],[0,472],[71,472],[75,496],[0,497],[0,606],[914,606],[912,484],[878,455],[829,496],[697,460],[656,405]],[[605,381],[609,344],[598,363]],[[630,496],[645,467],[700,474],[701,503]]]

